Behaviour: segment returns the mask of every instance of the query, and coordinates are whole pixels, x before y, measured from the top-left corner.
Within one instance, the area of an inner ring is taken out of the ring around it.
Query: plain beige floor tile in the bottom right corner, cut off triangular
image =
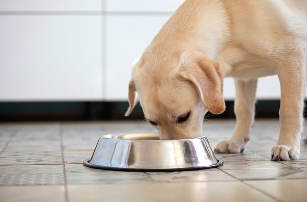
[[[245,181],[247,184],[264,191],[282,201],[307,201],[307,179]]]

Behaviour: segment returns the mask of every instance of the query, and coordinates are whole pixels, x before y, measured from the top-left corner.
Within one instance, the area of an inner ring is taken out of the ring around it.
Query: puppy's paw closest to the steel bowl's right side
[[[214,149],[215,153],[242,153],[245,149],[245,144],[237,140],[222,140]]]

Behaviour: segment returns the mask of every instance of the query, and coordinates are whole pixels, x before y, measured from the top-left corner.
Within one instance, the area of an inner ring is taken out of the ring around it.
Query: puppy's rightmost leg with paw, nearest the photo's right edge
[[[282,66],[278,73],[281,89],[280,134],[276,146],[272,148],[272,160],[275,161],[299,158],[306,77],[306,60],[300,62],[299,59],[288,62],[287,65],[291,66]]]

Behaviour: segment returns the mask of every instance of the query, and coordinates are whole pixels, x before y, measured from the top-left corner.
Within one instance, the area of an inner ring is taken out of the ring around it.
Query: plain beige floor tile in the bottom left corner
[[[5,202],[62,202],[64,186],[1,186],[0,201]]]

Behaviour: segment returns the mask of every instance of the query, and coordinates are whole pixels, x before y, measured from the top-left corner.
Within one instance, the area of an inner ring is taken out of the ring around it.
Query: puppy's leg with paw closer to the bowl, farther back
[[[242,153],[249,141],[255,115],[257,79],[235,79],[234,112],[236,124],[229,140],[220,141],[214,151],[217,153]]]

